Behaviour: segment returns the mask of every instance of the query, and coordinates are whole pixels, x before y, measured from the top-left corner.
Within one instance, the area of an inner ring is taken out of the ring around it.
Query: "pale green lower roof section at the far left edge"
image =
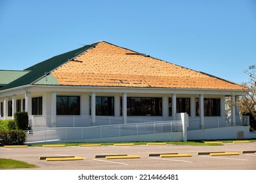
[[[30,71],[0,70],[0,85],[7,85],[29,72]]]

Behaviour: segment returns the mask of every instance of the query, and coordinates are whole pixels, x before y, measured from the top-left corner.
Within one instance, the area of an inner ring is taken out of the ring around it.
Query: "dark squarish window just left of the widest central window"
[[[114,97],[95,97],[96,116],[114,116]]]

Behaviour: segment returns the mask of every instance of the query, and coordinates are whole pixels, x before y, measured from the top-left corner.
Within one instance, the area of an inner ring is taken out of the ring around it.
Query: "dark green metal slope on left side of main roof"
[[[24,70],[24,71],[30,71],[29,73],[12,81],[6,86],[1,87],[0,90],[7,90],[11,88],[16,88],[18,86],[33,84],[33,82],[37,82],[37,80],[40,80],[42,77],[44,77],[45,73],[49,74],[51,71],[53,71],[60,65],[66,63],[68,60],[74,58],[75,56],[78,56],[79,54],[81,54],[82,52],[85,52],[89,48],[92,48],[95,44],[86,45],[76,50],[72,50],[70,52],[66,52],[64,54],[60,54],[58,56],[54,56],[53,58],[37,63],[32,67],[29,67],[28,69]]]

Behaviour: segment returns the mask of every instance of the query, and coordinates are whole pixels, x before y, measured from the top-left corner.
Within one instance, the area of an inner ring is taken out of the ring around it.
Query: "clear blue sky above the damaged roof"
[[[0,69],[107,41],[241,83],[256,64],[255,0],[0,0]]]

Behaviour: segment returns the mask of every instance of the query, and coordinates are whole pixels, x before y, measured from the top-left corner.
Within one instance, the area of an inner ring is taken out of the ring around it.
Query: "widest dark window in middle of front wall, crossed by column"
[[[122,114],[122,98],[121,98]],[[127,116],[161,116],[160,97],[127,97]]]

